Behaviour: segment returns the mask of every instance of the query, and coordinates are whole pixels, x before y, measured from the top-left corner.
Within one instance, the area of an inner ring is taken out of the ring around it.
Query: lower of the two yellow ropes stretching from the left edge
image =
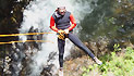
[[[36,41],[36,42],[52,42],[50,40],[19,40],[19,41],[0,42],[0,45],[14,43],[14,42],[33,42],[33,41]]]

